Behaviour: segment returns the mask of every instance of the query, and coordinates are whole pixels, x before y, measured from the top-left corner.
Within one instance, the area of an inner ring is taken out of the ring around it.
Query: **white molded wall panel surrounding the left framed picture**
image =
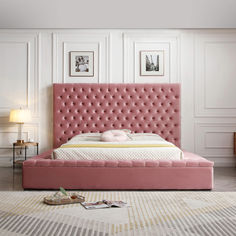
[[[108,83],[111,77],[111,47],[108,32],[53,33],[54,83]],[[94,51],[94,77],[69,76],[69,52]]]

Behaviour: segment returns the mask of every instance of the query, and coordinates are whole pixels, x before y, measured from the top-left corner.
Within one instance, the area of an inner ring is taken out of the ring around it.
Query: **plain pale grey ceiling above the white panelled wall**
[[[236,1],[0,0],[0,28],[236,28]]]

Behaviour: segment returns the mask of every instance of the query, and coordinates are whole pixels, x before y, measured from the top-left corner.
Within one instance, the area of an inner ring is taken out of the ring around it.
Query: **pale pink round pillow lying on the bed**
[[[101,135],[101,141],[103,142],[122,142],[128,139],[129,137],[123,130],[108,130]]]

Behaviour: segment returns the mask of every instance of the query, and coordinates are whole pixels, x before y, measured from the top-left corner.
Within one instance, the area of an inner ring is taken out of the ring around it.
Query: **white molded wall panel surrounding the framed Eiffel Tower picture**
[[[123,34],[123,62],[125,83],[177,83],[180,82],[180,36],[178,31],[127,32]],[[164,76],[140,76],[140,51],[164,50]]]

